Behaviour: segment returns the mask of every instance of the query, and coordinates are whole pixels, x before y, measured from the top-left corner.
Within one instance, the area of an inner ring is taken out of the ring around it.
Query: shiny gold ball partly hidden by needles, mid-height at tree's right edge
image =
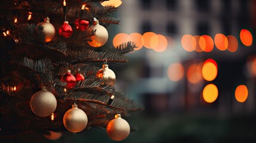
[[[106,85],[113,86],[116,82],[116,74],[113,70],[109,69],[109,65],[103,64],[102,69],[98,70],[96,76],[106,79]]]

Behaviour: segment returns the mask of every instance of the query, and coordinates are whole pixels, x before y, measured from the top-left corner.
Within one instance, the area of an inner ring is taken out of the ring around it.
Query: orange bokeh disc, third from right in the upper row
[[[214,38],[215,46],[220,49],[220,51],[225,51],[227,49],[227,46],[229,45],[229,41],[227,40],[227,37],[221,33],[218,33],[215,35]]]

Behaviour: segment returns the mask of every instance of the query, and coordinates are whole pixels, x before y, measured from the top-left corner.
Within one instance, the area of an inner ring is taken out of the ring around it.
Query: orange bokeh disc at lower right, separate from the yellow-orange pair
[[[248,97],[248,89],[245,85],[239,85],[235,91],[235,97],[238,102],[245,102]]]

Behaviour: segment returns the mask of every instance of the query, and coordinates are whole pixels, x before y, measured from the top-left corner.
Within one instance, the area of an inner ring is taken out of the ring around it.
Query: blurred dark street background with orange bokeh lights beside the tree
[[[256,1],[127,0],[117,16],[109,44],[138,48],[110,64],[115,87],[144,105],[122,142],[256,142]],[[97,128],[70,141],[115,142]]]

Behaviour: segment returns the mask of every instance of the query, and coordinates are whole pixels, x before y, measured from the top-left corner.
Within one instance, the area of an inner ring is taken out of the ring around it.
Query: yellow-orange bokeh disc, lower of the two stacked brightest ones
[[[203,100],[206,102],[214,102],[218,98],[218,88],[214,84],[210,83],[203,88]]]

